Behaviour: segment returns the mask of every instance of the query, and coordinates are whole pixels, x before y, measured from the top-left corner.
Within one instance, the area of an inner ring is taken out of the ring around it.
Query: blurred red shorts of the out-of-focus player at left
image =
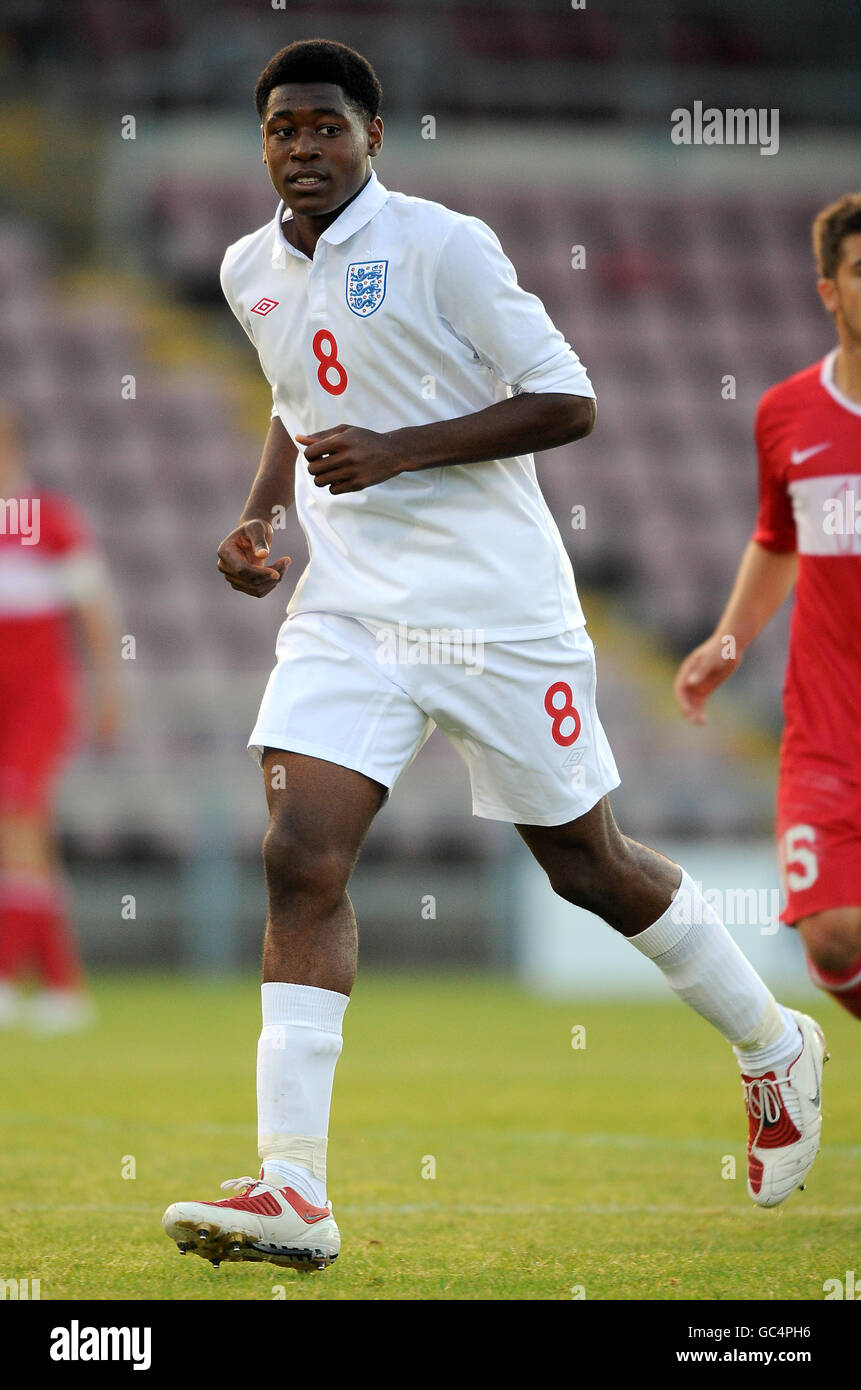
[[[77,733],[77,688],[65,673],[0,673],[0,815],[46,812]]]

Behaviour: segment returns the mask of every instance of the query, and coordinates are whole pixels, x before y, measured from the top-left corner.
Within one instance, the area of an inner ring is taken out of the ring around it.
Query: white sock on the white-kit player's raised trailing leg
[[[680,999],[733,1044],[748,1076],[791,1061],[796,1020],[775,1001],[684,869],[663,916],[629,941],[655,962]]]

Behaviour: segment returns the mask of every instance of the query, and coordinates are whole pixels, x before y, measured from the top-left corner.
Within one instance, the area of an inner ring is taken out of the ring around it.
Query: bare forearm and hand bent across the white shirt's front
[[[334,425],[296,435],[316,486],[332,493],[360,492],[399,473],[480,463],[537,453],[583,439],[595,423],[590,396],[523,392],[456,420],[377,434],[356,425]]]

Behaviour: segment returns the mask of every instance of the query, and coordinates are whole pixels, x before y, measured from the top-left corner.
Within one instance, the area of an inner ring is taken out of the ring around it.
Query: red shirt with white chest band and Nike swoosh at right
[[[780,771],[861,784],[861,404],[833,381],[837,349],[762,396],[754,541],[798,552]]]

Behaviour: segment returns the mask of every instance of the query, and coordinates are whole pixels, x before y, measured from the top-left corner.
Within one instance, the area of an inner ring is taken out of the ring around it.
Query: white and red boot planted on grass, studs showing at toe
[[[314,1207],[292,1187],[273,1187],[256,1177],[231,1177],[221,1188],[239,1195],[220,1202],[174,1202],[161,1225],[181,1255],[192,1251],[213,1265],[223,1259],[267,1259],[309,1272],[338,1258],[341,1232],[331,1202]]]

